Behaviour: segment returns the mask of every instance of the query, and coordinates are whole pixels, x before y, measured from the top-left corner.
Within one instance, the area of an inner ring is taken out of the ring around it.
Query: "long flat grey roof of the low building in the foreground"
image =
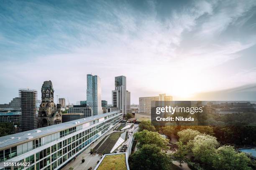
[[[77,120],[72,120],[69,122],[60,123],[57,125],[51,125],[51,126],[47,126],[44,128],[38,128],[38,129],[28,130],[28,131],[21,132],[21,133],[15,133],[12,135],[3,136],[3,137],[0,137],[0,150],[5,147],[11,147],[11,145],[14,145],[16,143],[20,143],[20,144],[25,143],[27,140],[33,140],[38,137],[41,138],[41,137],[50,135],[52,133],[56,133],[56,132],[59,132],[61,130],[67,129],[67,128],[72,128],[77,125],[82,125],[82,124],[90,122],[92,120],[96,120],[96,119],[99,119],[99,118],[102,118],[102,117],[105,117],[108,115],[112,115],[112,114],[115,114],[118,112],[119,111],[108,112],[108,113],[104,113],[104,114],[100,114],[100,115],[95,115],[95,116],[91,116],[91,117],[85,117],[82,119],[77,119]],[[77,123],[78,121],[80,123]]]

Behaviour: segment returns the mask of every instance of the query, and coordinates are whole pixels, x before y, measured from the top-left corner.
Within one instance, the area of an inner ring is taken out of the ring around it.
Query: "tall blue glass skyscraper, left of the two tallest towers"
[[[101,107],[101,80],[97,75],[87,75],[87,106],[92,108],[93,115],[103,113]]]

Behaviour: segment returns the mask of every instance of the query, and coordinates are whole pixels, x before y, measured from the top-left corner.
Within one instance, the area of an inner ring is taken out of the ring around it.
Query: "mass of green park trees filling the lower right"
[[[172,145],[173,153],[167,154],[165,150],[169,149],[169,140],[163,138],[158,132],[148,130],[150,126],[150,122],[144,121],[140,125],[141,130],[134,134],[138,140],[138,151],[129,158],[131,170],[172,170],[170,168],[172,161],[177,161],[180,166],[187,163],[192,170],[252,170],[256,167],[255,161],[248,158],[245,153],[235,150],[232,145],[234,141],[223,143],[228,139],[219,140],[224,132],[229,132],[231,137],[234,132],[241,134],[240,130],[252,127],[222,127],[218,132],[216,127],[211,126],[165,126],[160,128],[160,132],[169,138],[178,139],[178,142]],[[244,141],[241,140],[241,143]],[[160,160],[163,164],[159,163]]]

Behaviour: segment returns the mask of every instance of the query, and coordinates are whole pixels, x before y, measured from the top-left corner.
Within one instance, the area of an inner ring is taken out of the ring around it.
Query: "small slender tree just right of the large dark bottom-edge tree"
[[[182,142],[178,142],[178,150],[176,153],[172,154],[172,159],[177,160],[179,162],[179,166],[182,166],[182,163],[187,162],[186,154],[187,154],[187,149],[186,147],[182,144]]]

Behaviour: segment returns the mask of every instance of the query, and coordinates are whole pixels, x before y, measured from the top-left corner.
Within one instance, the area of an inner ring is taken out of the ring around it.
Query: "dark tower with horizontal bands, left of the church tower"
[[[23,131],[36,129],[37,91],[31,89],[19,89],[19,95],[21,98],[21,129]]]

